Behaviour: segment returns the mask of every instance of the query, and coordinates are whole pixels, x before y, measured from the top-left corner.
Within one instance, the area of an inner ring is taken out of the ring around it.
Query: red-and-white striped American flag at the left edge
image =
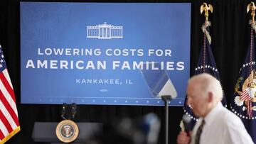
[[[18,111],[14,89],[6,68],[3,50],[0,45],[0,143],[5,143],[9,138],[20,131]]]

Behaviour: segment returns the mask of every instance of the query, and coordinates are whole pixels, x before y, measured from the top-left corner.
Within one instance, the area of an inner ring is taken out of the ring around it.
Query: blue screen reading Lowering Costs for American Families
[[[169,79],[170,105],[183,106],[191,4],[20,6],[21,103],[163,105],[157,94]]]

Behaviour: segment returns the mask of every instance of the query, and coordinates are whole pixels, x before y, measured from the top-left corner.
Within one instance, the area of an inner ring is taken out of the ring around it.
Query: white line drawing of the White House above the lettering
[[[106,22],[101,25],[87,26],[87,38],[123,38],[122,26],[112,26]]]

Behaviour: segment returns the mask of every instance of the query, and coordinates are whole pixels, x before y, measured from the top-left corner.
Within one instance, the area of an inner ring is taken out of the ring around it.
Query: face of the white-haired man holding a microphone
[[[207,101],[206,92],[198,88],[196,82],[191,82],[187,87],[187,104],[191,106],[193,113],[196,116],[204,117],[207,114]]]

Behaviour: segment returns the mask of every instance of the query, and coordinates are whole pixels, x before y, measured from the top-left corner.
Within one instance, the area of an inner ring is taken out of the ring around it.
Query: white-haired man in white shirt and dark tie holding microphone
[[[223,90],[210,74],[198,74],[188,80],[187,98],[199,119],[192,132],[178,134],[178,144],[253,143],[240,118],[221,104]]]

